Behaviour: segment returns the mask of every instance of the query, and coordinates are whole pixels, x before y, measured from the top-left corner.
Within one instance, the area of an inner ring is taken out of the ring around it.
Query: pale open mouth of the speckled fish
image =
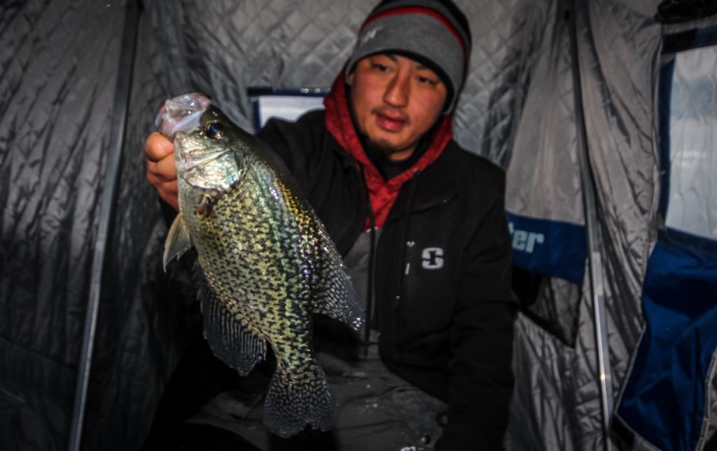
[[[157,114],[155,125],[167,138],[174,138],[179,131],[199,127],[201,115],[211,102],[200,92],[191,92],[166,100]]]

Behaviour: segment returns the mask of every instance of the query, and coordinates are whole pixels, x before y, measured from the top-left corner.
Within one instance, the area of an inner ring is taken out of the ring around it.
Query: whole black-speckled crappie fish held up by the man
[[[313,354],[312,314],[353,328],[363,315],[336,246],[282,161],[204,95],[167,100],[158,125],[174,136],[179,181],[164,265],[196,248],[206,340],[242,375],[269,343],[277,359],[264,406],[271,432],[331,429],[336,403]]]

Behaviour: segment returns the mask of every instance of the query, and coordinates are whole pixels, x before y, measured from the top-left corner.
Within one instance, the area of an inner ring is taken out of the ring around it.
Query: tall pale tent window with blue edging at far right
[[[671,241],[703,247],[704,239],[717,244],[717,29],[668,39],[660,74],[660,210]]]

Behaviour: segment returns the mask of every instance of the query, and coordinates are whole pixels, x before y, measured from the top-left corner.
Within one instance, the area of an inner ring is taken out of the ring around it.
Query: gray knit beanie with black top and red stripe
[[[411,57],[434,70],[447,87],[444,113],[455,108],[470,60],[470,26],[450,0],[384,0],[361,25],[346,65],[376,53]]]

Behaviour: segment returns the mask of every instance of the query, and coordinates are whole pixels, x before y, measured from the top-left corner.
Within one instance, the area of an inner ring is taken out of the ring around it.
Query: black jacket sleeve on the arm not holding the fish
[[[504,177],[462,262],[450,336],[447,424],[440,451],[500,450],[513,393],[511,236],[503,210]],[[489,198],[490,199],[490,198]]]

